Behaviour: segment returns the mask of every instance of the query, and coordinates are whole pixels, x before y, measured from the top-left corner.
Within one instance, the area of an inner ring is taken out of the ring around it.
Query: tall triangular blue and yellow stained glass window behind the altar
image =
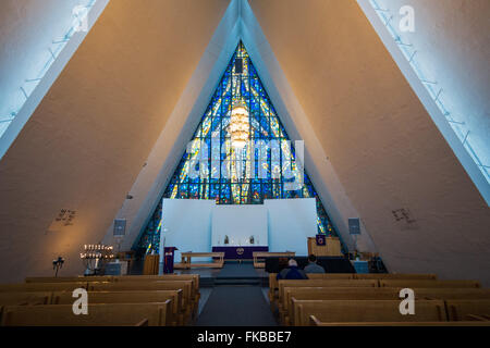
[[[232,109],[248,111],[248,142],[232,144]],[[261,204],[265,199],[315,198],[318,233],[338,236],[242,42],[238,44],[162,198],[212,199],[218,204]],[[135,249],[158,252],[158,203]],[[344,250],[345,251],[345,250]]]

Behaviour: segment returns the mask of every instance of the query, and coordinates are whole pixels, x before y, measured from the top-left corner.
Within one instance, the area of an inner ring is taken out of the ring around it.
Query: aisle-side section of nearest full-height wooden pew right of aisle
[[[414,315],[400,313],[400,300],[296,300],[293,325],[309,325],[309,315],[321,322],[440,322],[446,321],[444,301],[419,300]]]

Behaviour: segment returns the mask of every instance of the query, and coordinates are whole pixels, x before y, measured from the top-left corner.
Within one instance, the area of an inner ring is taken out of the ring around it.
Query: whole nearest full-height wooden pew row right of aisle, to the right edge
[[[458,322],[490,324],[490,300],[416,300],[415,314],[403,315],[400,300],[296,300],[292,299],[294,326],[310,325],[310,315],[320,323]]]

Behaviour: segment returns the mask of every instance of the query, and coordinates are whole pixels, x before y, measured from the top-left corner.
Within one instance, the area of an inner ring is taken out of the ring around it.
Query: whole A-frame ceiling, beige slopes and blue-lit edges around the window
[[[360,216],[393,272],[490,281],[488,207],[357,2],[249,2],[109,3],[0,162],[2,281],[58,254],[79,273],[114,216],[132,244],[238,38],[342,233]],[[62,208],[74,226],[46,233]]]

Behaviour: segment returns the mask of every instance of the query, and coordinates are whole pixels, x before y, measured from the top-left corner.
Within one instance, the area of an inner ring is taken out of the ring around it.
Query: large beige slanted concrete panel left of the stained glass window
[[[228,5],[109,2],[0,161],[0,282],[52,275],[59,254],[61,274],[83,272],[81,246],[103,239]],[[74,225],[48,233],[62,208]]]

